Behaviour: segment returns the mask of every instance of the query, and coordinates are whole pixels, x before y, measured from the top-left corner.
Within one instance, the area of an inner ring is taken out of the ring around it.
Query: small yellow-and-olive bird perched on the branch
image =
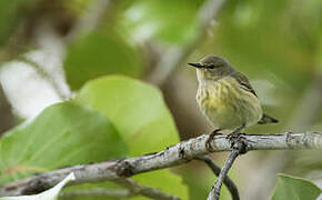
[[[212,137],[220,130],[231,130],[233,136],[255,123],[278,122],[263,113],[249,79],[225,59],[207,56],[198,63],[188,64],[197,68],[197,101],[201,111],[217,128]]]

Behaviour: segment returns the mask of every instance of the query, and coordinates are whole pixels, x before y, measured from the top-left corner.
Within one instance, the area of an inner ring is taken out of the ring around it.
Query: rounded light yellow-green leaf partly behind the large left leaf
[[[87,83],[76,101],[109,117],[127,141],[131,156],[160,151],[179,141],[161,92],[141,81],[103,77]]]

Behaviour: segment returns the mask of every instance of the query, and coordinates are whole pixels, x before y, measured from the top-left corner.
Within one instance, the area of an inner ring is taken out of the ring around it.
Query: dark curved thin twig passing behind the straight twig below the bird
[[[202,156],[202,157],[197,157],[197,160],[201,160],[204,163],[208,164],[208,167],[212,170],[212,172],[219,177],[220,174],[220,167],[218,167],[209,157]],[[233,200],[240,200],[238,188],[234,184],[234,182],[227,176],[225,179],[223,180],[223,183],[227,186],[228,190],[230,191],[230,194]]]

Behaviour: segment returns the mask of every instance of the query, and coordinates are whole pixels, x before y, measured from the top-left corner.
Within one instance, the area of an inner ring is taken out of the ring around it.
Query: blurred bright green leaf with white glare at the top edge
[[[137,0],[124,14],[124,28],[138,41],[158,39],[184,44],[198,33],[195,13],[202,1]]]

